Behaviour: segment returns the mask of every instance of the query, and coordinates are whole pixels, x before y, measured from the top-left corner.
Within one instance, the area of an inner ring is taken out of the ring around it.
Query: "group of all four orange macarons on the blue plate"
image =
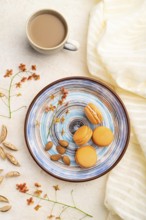
[[[89,103],[84,111],[86,117],[92,124],[98,125],[102,123],[102,113],[93,103]],[[75,154],[75,160],[82,168],[93,167],[97,162],[95,148],[86,145],[91,138],[99,147],[107,147],[113,141],[114,135],[109,128],[104,126],[98,126],[92,131],[90,127],[84,125],[75,132],[73,140],[79,146]]]

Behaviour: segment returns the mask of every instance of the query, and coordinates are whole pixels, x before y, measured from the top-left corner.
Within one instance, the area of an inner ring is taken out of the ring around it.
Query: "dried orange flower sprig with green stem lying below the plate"
[[[34,184],[35,187],[38,187],[41,186],[41,184]],[[76,203],[75,203],[75,200],[74,200],[74,197],[73,197],[73,190],[71,191],[71,198],[72,198],[72,203],[73,205],[70,205],[70,204],[67,204],[67,203],[63,203],[63,202],[59,202],[57,200],[57,191],[60,190],[60,187],[58,185],[56,186],[53,186],[54,190],[55,190],[55,199],[50,199],[47,194],[44,194],[42,195],[43,191],[42,190],[36,190],[38,193],[36,193],[36,191],[34,193],[30,193],[29,192],[29,189],[28,189],[28,186],[26,183],[22,183],[22,184],[17,184],[16,185],[16,189],[21,192],[21,193],[25,193],[26,195],[30,196],[26,202],[28,205],[35,205],[34,209],[36,211],[38,211],[42,206],[40,204],[35,204],[34,202],[34,199],[33,198],[38,198],[39,199],[39,203],[40,201],[46,201],[46,202],[50,202],[50,203],[53,203],[53,207],[52,207],[52,210],[51,210],[51,213],[49,214],[49,216],[47,217],[48,219],[52,219],[54,217],[53,215],[53,209],[55,207],[55,205],[61,205],[63,206],[63,209],[62,211],[60,212],[60,214],[56,217],[56,219],[61,219],[61,215],[67,210],[67,209],[74,209],[78,212],[80,212],[81,214],[83,214],[84,216],[81,218],[86,218],[86,217],[89,217],[89,218],[93,218],[93,216],[87,212],[85,212],[84,210],[80,209],[77,207]]]

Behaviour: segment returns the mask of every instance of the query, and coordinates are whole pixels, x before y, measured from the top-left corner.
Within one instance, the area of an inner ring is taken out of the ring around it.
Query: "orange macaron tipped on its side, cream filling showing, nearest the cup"
[[[85,109],[85,115],[92,124],[99,124],[102,122],[103,117],[100,110],[93,104],[89,103]]]

